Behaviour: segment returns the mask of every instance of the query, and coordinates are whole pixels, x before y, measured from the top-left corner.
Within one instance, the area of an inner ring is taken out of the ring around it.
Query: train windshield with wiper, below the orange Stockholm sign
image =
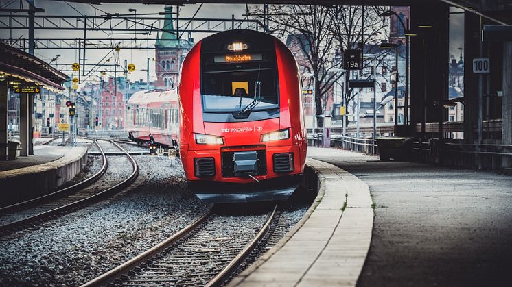
[[[202,103],[205,112],[236,112],[279,108],[275,69],[261,67],[244,70],[207,71],[202,77]]]

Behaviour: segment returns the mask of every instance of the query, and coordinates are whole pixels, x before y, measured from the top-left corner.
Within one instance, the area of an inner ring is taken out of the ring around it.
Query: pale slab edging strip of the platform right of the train
[[[229,286],[355,286],[371,242],[369,187],[338,166],[314,160],[331,149],[308,148],[318,195],[303,219]]]

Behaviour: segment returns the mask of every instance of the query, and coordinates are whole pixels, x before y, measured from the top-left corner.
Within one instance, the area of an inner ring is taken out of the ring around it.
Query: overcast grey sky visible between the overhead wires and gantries
[[[5,3],[7,1],[1,0],[0,3]],[[115,4],[108,3],[103,5],[89,5],[82,3],[67,3],[65,1],[50,1],[50,0],[34,0],[36,7],[40,7],[45,9],[45,13],[47,15],[75,15],[80,16],[80,14],[87,15],[97,15],[100,16],[104,14],[104,12],[110,13],[119,13],[119,14],[129,14],[128,8],[137,9],[137,14],[142,13],[159,13],[163,12],[163,5],[141,5],[141,4]],[[25,3],[26,7],[26,2]],[[190,4],[185,5],[181,8],[180,16],[183,17],[191,17],[194,15],[194,12],[198,9],[199,4]],[[19,1],[15,1],[10,8],[19,8]],[[96,9],[95,9],[96,8]],[[102,12],[104,11],[104,12]],[[452,9],[452,11],[456,11]],[[174,11],[175,12],[175,11]],[[204,4],[202,8],[198,12],[196,17],[202,18],[231,18],[231,15],[235,15],[235,18],[244,18],[242,14],[246,13],[246,5],[244,4]],[[39,14],[38,14],[39,15]],[[183,25],[185,22],[181,22]],[[82,24],[83,25],[83,24]],[[463,14],[451,14],[450,16],[450,51],[456,56],[458,59],[458,48],[463,47]],[[10,35],[10,31],[8,29],[0,30],[1,38],[19,38],[23,36],[23,38],[27,38],[27,31],[25,30],[13,30],[13,34]],[[109,32],[87,32],[88,38],[100,38],[106,37],[108,38]],[[193,34],[192,37],[197,42],[200,38],[203,38],[209,34]],[[57,31],[57,30],[36,30],[35,37],[36,38],[81,38],[83,36],[83,32],[73,32],[73,31]],[[134,35],[115,35],[116,38],[133,38]],[[156,38],[156,32],[153,32],[150,38]],[[187,35],[183,35],[184,38]],[[138,35],[137,38],[146,38],[146,36]],[[108,41],[107,41],[108,42]],[[150,42],[151,43],[151,42]],[[141,41],[138,43],[139,45],[146,46],[146,41]],[[108,53],[108,50],[98,50],[98,49],[88,49],[86,52],[86,60],[88,63],[95,64],[101,58],[104,57]],[[38,50],[36,49],[36,55],[43,60],[50,61],[51,58],[54,58],[57,54],[60,54],[60,58],[58,62],[60,63],[73,63],[78,62],[78,51],[77,50]],[[136,71],[130,75],[128,75],[128,79],[132,81],[137,81],[139,79],[143,79],[146,81],[146,71],[141,71],[141,69],[146,69],[146,58],[150,59],[154,58],[154,50],[127,50],[121,49],[119,51],[119,64],[121,66],[124,65],[124,60],[127,60],[128,63],[132,62],[137,67]],[[110,63],[114,63],[114,58],[110,60]],[[67,72],[68,74],[71,74]],[[112,73],[113,74],[113,73]],[[121,73],[119,73],[120,75]],[[97,77],[91,77],[90,79],[96,80]],[[154,62],[150,62],[150,80],[154,81],[156,76],[154,75]]]

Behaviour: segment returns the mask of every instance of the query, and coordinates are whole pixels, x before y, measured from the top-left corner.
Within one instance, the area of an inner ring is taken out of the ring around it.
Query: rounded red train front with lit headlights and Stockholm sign
[[[198,42],[181,67],[180,155],[212,203],[286,200],[301,182],[306,134],[299,71],[277,38],[231,30]]]

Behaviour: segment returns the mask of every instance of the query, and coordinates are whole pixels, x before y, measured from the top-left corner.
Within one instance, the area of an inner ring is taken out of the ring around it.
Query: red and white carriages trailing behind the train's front
[[[135,92],[126,105],[126,130],[134,142],[154,141],[178,147],[178,93],[174,90]]]

